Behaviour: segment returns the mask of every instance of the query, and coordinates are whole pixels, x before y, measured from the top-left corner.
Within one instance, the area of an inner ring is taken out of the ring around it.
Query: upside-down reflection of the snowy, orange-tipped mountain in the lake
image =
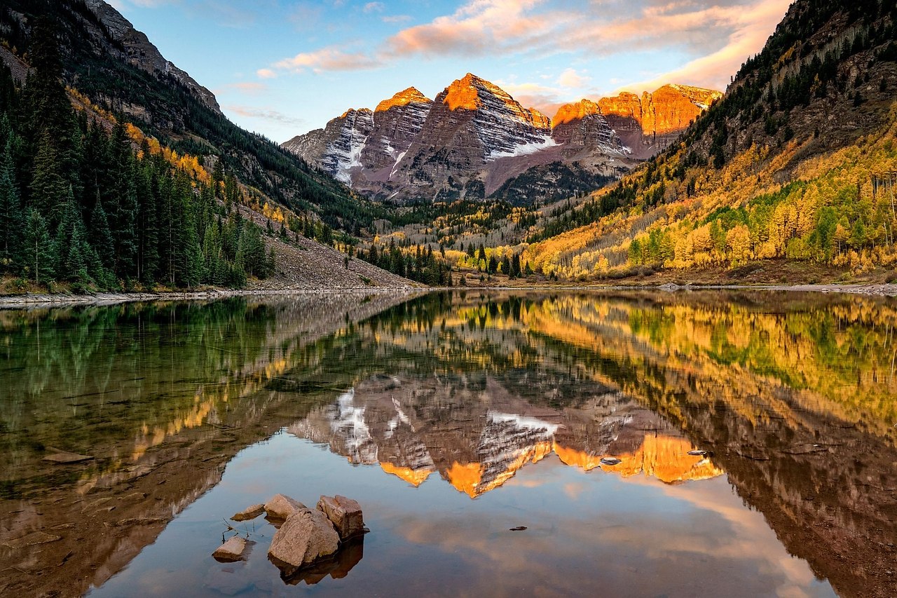
[[[415,487],[439,471],[472,498],[551,453],[585,471],[644,473],[666,483],[723,473],[706,457],[688,454],[694,447],[675,427],[619,393],[552,409],[514,397],[492,377],[482,390],[435,378],[374,378],[287,429]],[[606,456],[619,462],[603,464]]]

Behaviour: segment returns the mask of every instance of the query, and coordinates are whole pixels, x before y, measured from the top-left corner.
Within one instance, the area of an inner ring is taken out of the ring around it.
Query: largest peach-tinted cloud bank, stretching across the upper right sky
[[[591,0],[588,10],[564,11],[548,0],[468,0],[453,13],[396,32],[369,52],[329,46],[278,61],[261,69],[259,76],[305,70],[364,70],[421,57],[541,57],[563,53],[596,59],[633,51],[666,51],[689,62],[633,84],[650,87],[675,78],[678,83],[720,88],[745,58],[762,48],[789,3]],[[381,4],[368,3],[363,10],[379,11]],[[381,19],[399,22],[404,16]],[[556,84],[581,88],[588,84],[583,76],[570,69],[558,75]]]

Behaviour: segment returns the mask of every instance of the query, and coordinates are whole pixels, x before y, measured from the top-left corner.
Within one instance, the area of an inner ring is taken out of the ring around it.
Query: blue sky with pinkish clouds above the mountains
[[[109,0],[235,123],[283,142],[474,73],[553,117],[666,83],[725,91],[790,0]]]

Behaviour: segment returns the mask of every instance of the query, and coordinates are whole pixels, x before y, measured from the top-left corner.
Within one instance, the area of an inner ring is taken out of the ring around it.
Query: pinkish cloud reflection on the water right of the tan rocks
[[[533,488],[528,481],[513,486],[523,492]],[[806,562],[788,556],[762,514],[745,510],[722,479],[675,487],[633,481],[641,488],[623,508],[602,499],[622,488],[573,481],[555,495],[552,514],[431,514],[405,519],[396,532],[460,555],[472,594],[520,585],[527,594],[600,586],[606,595],[817,595]],[[658,493],[678,504],[651,511]],[[518,524],[527,531],[508,532]],[[818,594],[830,591],[820,586]]]

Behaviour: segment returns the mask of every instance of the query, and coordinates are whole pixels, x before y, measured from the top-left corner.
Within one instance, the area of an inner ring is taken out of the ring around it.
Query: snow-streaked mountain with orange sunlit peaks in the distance
[[[571,190],[536,189],[534,177],[584,189],[619,177],[719,96],[665,85],[641,97],[567,104],[549,119],[468,73],[435,101],[409,87],[373,112],[347,110],[283,147],[373,197],[533,201]]]

